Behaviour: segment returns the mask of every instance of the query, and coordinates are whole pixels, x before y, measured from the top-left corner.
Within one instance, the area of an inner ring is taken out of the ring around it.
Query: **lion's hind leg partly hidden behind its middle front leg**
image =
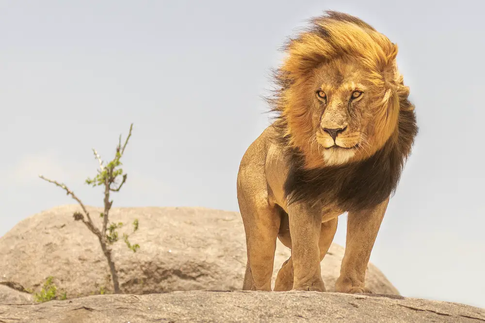
[[[328,248],[330,248],[330,245],[332,244],[335,232],[337,231],[337,224],[337,217],[322,223],[322,227],[320,229],[320,240],[318,243],[318,247],[320,249],[320,261],[323,260],[323,257],[325,257]],[[286,220],[283,217],[281,221],[282,228],[280,230],[278,238],[283,243],[283,245],[291,248],[290,231],[286,231],[284,229],[285,225]],[[281,269],[278,271],[278,275],[276,276],[275,281],[275,292],[291,291],[291,289],[293,289],[293,260],[290,257],[287,261],[283,262]]]

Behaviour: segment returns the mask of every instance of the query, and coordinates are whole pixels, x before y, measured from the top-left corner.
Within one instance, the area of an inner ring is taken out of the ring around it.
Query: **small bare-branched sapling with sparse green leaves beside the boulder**
[[[98,240],[99,244],[101,245],[101,250],[103,251],[106,260],[108,261],[108,265],[110,267],[111,277],[113,280],[113,291],[115,294],[120,293],[119,289],[119,282],[118,282],[118,274],[116,272],[116,267],[114,265],[114,261],[112,258],[112,245],[113,243],[117,242],[120,238],[118,236],[118,229],[123,227],[122,222],[111,222],[109,221],[109,213],[111,210],[111,206],[113,205],[113,200],[110,200],[111,192],[119,192],[123,184],[125,184],[127,179],[127,174],[123,173],[123,169],[119,168],[122,166],[120,161],[121,157],[125,153],[126,145],[128,144],[128,139],[131,137],[131,130],[133,129],[133,123],[131,123],[129,127],[129,133],[125,140],[125,143],[121,144],[121,135],[119,137],[118,145],[116,146],[116,153],[114,155],[113,160],[108,163],[105,163],[101,160],[101,157],[97,153],[97,151],[93,148],[93,153],[99,162],[99,169],[97,171],[97,175],[94,178],[87,178],[85,183],[88,185],[92,185],[93,187],[96,186],[104,186],[104,211],[99,214],[99,216],[103,219],[102,229],[99,230],[93,223],[91,219],[91,215],[87,211],[86,207],[82,203],[82,201],[71,191],[64,183],[59,183],[57,181],[50,180],[42,175],[39,177],[49,183],[52,183],[56,186],[61,187],[70,195],[74,200],[76,200],[79,205],[81,206],[82,212],[75,212],[73,214],[75,221],[82,221],[89,229],[89,231],[93,232]],[[121,177],[121,180],[119,178]],[[138,230],[138,219],[133,221],[133,232]],[[131,244],[128,240],[129,234],[123,233],[123,241],[128,246],[130,250],[136,252],[140,246],[138,244]],[[101,292],[101,291],[100,291]],[[104,287],[103,293],[104,294]]]

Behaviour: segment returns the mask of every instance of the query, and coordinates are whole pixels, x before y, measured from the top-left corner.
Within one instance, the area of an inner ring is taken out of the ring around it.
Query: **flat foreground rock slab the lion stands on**
[[[0,322],[485,322],[485,310],[402,296],[333,292],[171,292],[0,304]]]

